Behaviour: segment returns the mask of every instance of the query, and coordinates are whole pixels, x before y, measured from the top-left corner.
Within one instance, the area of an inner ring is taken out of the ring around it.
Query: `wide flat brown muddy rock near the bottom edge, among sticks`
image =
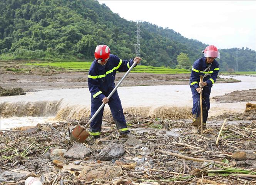
[[[91,181],[95,178],[116,178],[120,176],[122,176],[122,174],[113,166],[103,166],[97,169],[94,167],[86,167],[79,174],[78,179]]]

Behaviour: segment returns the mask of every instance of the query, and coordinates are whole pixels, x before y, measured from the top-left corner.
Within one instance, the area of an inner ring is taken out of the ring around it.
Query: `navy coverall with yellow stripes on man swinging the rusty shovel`
[[[109,60],[104,67],[97,63],[97,60],[92,62],[88,75],[88,86],[91,93],[91,117],[102,104],[102,99],[104,97],[108,97],[111,91],[115,88],[115,73],[117,71],[128,71],[132,64],[133,59],[122,60],[112,54],[110,54]],[[118,131],[122,135],[126,135],[130,131],[126,125],[121,101],[117,91],[115,91],[109,98],[108,104]],[[90,135],[93,135],[94,137],[100,135],[104,107],[90,123]]]

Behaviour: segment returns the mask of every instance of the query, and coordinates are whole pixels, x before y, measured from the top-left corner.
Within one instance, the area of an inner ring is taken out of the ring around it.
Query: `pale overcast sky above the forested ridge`
[[[131,21],[172,29],[220,49],[256,50],[256,1],[98,0]],[[143,33],[141,35],[143,39]]]

